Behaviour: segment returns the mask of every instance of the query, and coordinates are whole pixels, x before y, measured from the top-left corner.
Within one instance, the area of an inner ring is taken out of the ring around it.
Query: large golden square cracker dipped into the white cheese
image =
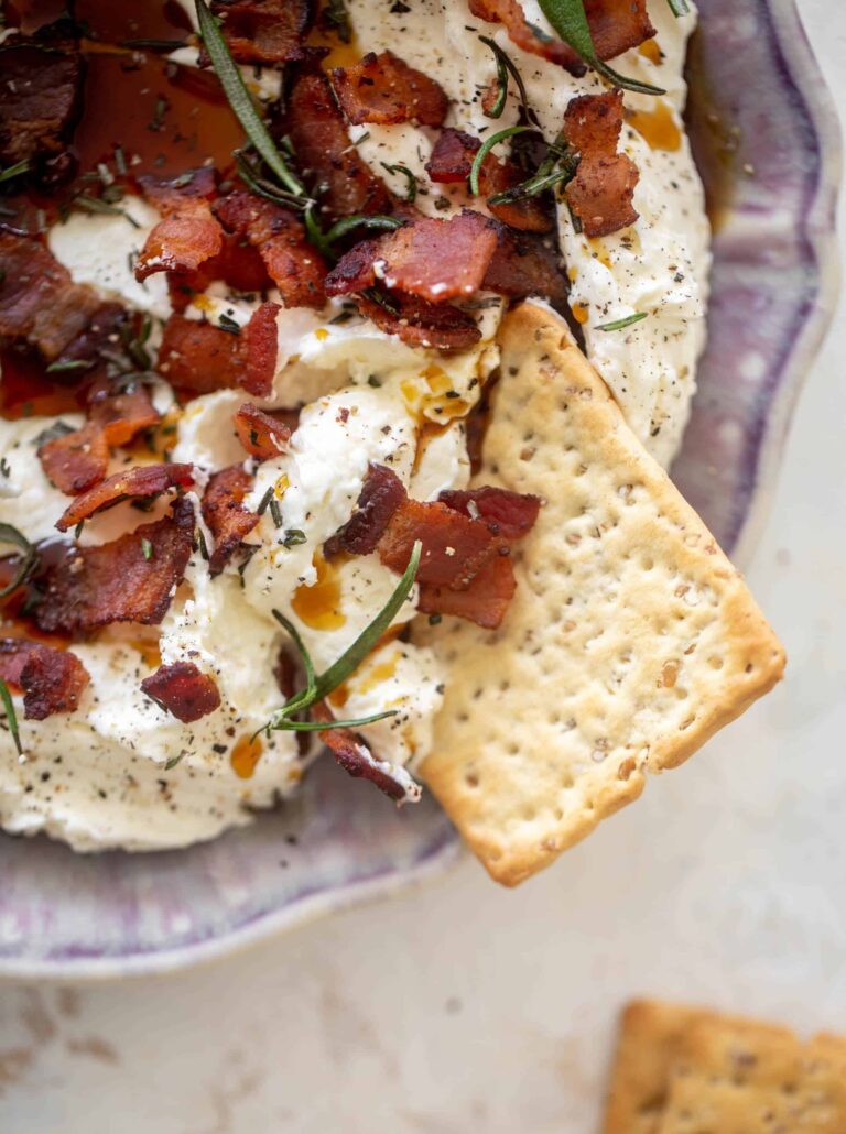
[[[420,640],[449,663],[422,776],[491,875],[548,865],[765,693],[784,652],[565,323],[504,321],[480,483],[545,500],[501,627]]]

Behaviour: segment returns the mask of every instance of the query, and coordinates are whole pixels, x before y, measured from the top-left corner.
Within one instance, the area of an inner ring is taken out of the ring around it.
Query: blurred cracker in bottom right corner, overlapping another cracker
[[[684,1032],[657,1134],[844,1134],[846,1041],[707,1013]]]

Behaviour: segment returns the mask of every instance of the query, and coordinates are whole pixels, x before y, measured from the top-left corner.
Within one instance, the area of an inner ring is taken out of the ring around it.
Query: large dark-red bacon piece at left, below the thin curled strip
[[[185,575],[194,542],[194,508],[178,497],[172,517],[143,524],[111,543],[81,548],[36,576],[33,611],[48,634],[81,634],[109,623],[158,625]]]

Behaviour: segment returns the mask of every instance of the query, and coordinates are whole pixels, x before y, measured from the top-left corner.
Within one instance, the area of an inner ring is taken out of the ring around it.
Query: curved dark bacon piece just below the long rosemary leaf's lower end
[[[214,212],[225,228],[259,249],[286,307],[323,307],[327,265],[293,212],[252,193],[230,193]]]

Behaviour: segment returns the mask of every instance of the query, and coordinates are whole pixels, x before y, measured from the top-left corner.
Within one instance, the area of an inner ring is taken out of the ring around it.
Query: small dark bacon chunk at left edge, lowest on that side
[[[0,677],[23,692],[27,720],[75,712],[91,680],[75,653],[26,638],[0,638]]]

